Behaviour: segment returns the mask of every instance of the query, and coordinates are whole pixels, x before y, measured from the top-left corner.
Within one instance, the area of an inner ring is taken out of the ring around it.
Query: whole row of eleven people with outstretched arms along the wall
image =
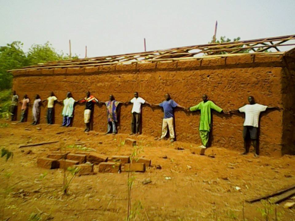
[[[106,102],[100,102],[96,99],[93,95],[90,94],[89,91],[86,92],[85,98],[80,100],[73,99],[72,93],[68,92],[66,98],[61,101],[58,100],[57,97],[54,95],[53,92],[50,92],[50,95],[47,99],[41,100],[40,96],[37,94],[35,96],[35,100],[33,102],[32,114],[33,114],[33,125],[38,123],[38,119],[40,118],[40,107],[43,103],[47,102],[47,123],[53,124],[53,117],[54,117],[54,103],[63,103],[63,122],[61,126],[71,126],[72,119],[73,119],[73,112],[74,112],[74,105],[76,103],[85,103],[85,110],[84,110],[84,122],[85,122],[85,132],[90,130],[90,122],[92,118],[92,112],[94,108],[94,104],[102,104],[106,106],[107,109],[107,133],[106,134],[116,134],[116,123],[117,119],[117,107],[120,103],[128,105],[130,103],[133,104],[132,107],[132,122],[131,122],[131,134],[138,135],[140,134],[140,116],[141,116],[141,106],[143,104],[147,104],[150,107],[159,106],[163,108],[164,117],[163,117],[163,124],[162,124],[162,134],[160,139],[164,139],[167,135],[167,130],[169,129],[170,141],[173,142],[175,140],[175,133],[174,133],[174,108],[179,107],[182,108],[184,111],[200,111],[200,123],[199,123],[199,134],[201,138],[202,145],[201,148],[206,148],[208,145],[209,134],[212,127],[211,121],[211,110],[217,111],[218,113],[223,114],[232,114],[235,112],[242,112],[245,113],[245,121],[244,121],[244,128],[243,128],[243,138],[244,138],[244,148],[245,152],[243,154],[247,154],[249,152],[249,146],[247,145],[247,139],[250,138],[254,149],[255,149],[255,156],[259,155],[259,148],[258,148],[258,127],[259,127],[259,115],[261,112],[265,111],[266,109],[281,109],[279,107],[268,107],[265,105],[261,105],[255,103],[254,97],[249,96],[248,101],[249,104],[246,104],[243,107],[238,108],[237,110],[231,111],[224,111],[221,107],[218,107],[214,104],[211,100],[208,100],[208,96],[204,94],[202,96],[203,101],[198,103],[195,106],[186,108],[178,103],[176,103],[173,99],[171,99],[170,95],[167,93],[165,94],[165,100],[162,103],[148,103],[143,98],[139,97],[138,92],[134,92],[134,97],[128,102],[119,102],[116,101],[113,95],[109,96],[109,100]],[[21,120],[20,122],[25,122],[27,119],[28,114],[28,106],[30,105],[30,100],[27,95],[24,95],[24,98],[21,101],[18,101],[18,95],[15,91],[13,91],[12,95],[12,106],[11,106],[11,120],[16,120],[17,115],[17,105],[18,102],[22,104],[22,113],[21,113]]]

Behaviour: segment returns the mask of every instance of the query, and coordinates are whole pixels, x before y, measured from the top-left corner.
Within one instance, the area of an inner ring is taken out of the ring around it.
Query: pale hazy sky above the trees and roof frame
[[[295,0],[0,0],[0,45],[49,41],[58,52],[107,56],[206,44],[214,34],[242,40],[295,34]]]

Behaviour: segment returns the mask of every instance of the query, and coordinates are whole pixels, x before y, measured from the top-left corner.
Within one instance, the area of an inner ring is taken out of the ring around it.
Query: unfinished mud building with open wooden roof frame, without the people
[[[262,155],[295,154],[295,35],[195,45],[142,53],[53,61],[11,70],[13,89],[33,100],[35,94],[46,99],[54,91],[65,99],[71,91],[74,99],[91,91],[100,101],[113,94],[126,102],[134,91],[149,103],[160,103],[165,93],[185,107],[199,103],[206,93],[224,110],[236,110],[253,95],[257,103],[279,106],[283,110],[266,111],[260,120]],[[281,50],[287,51],[281,52]],[[269,52],[271,51],[271,52]],[[118,132],[130,133],[131,105],[121,105]],[[76,105],[73,126],[83,127],[84,105]],[[55,105],[55,123],[62,122],[62,105]],[[29,109],[29,121],[31,117]],[[46,109],[41,109],[45,123]],[[96,106],[93,130],[106,131],[105,106]],[[244,114],[224,116],[213,111],[212,146],[243,150]],[[163,110],[143,107],[142,133],[159,136]],[[175,109],[177,141],[200,144],[199,112]]]

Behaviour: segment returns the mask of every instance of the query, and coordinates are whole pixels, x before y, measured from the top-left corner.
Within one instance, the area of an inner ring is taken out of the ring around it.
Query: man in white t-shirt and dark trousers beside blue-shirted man
[[[132,122],[131,122],[131,134],[140,134],[140,113],[141,113],[141,105],[142,104],[148,104],[151,106],[150,103],[148,103],[146,100],[138,96],[138,92],[134,92],[134,98],[132,98],[128,103],[133,103],[132,107]]]

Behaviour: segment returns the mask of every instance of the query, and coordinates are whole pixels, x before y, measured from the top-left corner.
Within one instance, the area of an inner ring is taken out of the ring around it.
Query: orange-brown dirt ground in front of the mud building
[[[7,124],[6,124],[7,123]],[[132,220],[243,220],[243,201],[295,184],[295,157],[255,158],[218,146],[206,155],[192,154],[195,143],[155,141],[144,134],[88,134],[82,128],[0,121],[0,145],[14,153],[7,162],[0,158],[0,220],[125,220],[127,215],[127,173],[97,173],[77,176],[62,194],[64,171],[38,168],[38,157],[51,150],[70,148],[75,141],[105,155],[127,155],[133,148],[125,138],[136,139],[139,156],[151,159],[145,173],[132,173]],[[41,130],[37,130],[39,127]],[[58,132],[63,132],[57,134]],[[55,141],[58,143],[19,148],[19,145]],[[253,148],[252,148],[253,149]],[[28,150],[32,152],[26,154]],[[243,148],[241,147],[241,152]],[[163,158],[164,156],[167,158]],[[213,157],[209,157],[208,155]],[[161,165],[162,169],[156,169]],[[46,174],[47,173],[47,174]],[[171,179],[169,178],[171,177]],[[151,183],[143,184],[150,178]],[[239,189],[240,188],[240,189]],[[287,201],[293,201],[289,199]],[[285,201],[285,202],[287,202]],[[277,205],[281,220],[295,220],[295,209]],[[142,207],[138,206],[139,204]],[[244,203],[245,220],[262,218],[262,203]],[[31,216],[37,214],[35,219]],[[270,215],[274,220],[274,215]]]

